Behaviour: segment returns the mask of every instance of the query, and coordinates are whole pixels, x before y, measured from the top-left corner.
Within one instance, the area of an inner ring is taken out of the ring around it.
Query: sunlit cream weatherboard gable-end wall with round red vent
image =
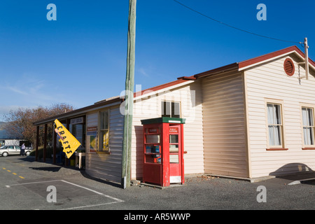
[[[315,151],[302,150],[301,106],[315,104],[315,79],[302,79],[304,67],[295,63],[295,73],[287,76],[283,62],[287,57],[245,71],[248,118],[248,148],[251,177],[279,175],[315,169]],[[314,75],[314,74],[313,74]],[[267,151],[266,102],[281,102],[283,140],[287,151]]]

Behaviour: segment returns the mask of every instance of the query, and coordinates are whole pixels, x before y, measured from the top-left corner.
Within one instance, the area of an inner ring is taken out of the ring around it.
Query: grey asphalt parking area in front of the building
[[[84,171],[32,158],[0,158],[0,163],[1,210],[121,210],[127,214],[135,209],[309,209],[315,204],[315,172],[255,183],[186,175],[183,186],[163,190],[131,186],[124,190],[119,184],[91,178]],[[52,196],[49,186],[55,187],[55,202],[47,200]]]

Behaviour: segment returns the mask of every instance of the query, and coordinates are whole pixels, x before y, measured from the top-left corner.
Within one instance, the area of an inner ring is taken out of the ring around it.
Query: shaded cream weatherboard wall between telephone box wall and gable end
[[[204,172],[248,176],[242,73],[202,79]]]

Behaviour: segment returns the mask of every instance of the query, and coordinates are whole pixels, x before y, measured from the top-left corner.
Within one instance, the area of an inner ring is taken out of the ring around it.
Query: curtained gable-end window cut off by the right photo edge
[[[314,146],[314,110],[302,107],[304,146]]]

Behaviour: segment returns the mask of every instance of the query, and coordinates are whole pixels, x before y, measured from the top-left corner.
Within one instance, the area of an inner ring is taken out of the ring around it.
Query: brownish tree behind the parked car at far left
[[[17,139],[26,139],[32,144],[36,142],[36,126],[33,125],[37,120],[43,120],[52,116],[73,111],[73,106],[69,104],[52,104],[49,107],[38,106],[33,109],[19,108],[10,111],[5,115],[6,125],[3,129],[12,137]],[[52,127],[48,127],[48,133],[51,133]],[[40,130],[40,145],[43,144],[43,130]]]

